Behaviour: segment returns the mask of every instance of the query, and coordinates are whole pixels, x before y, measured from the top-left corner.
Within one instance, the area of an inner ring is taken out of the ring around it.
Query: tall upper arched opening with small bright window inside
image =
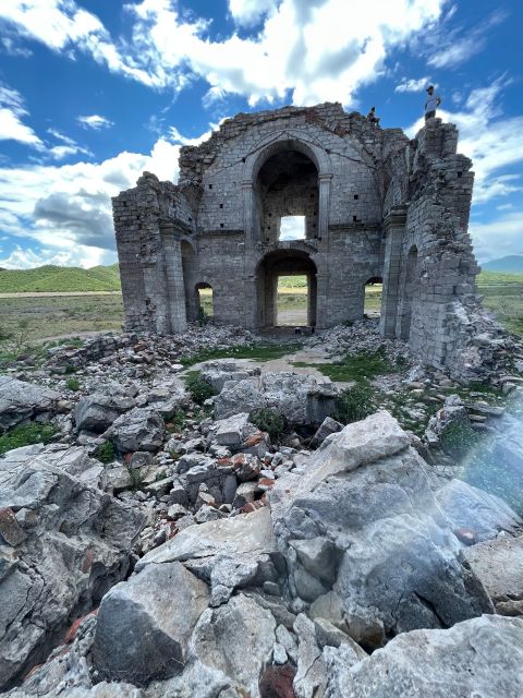
[[[318,170],[303,153],[284,148],[267,158],[256,177],[255,202],[264,242],[318,236]]]

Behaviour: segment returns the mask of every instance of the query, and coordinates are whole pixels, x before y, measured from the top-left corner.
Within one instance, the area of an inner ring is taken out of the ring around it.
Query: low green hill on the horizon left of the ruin
[[[0,293],[119,291],[118,264],[93,266],[54,266],[48,264],[36,269],[0,269]]]

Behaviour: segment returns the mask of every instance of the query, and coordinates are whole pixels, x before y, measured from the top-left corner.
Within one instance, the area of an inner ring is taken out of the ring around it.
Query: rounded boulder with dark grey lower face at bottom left
[[[207,585],[179,562],[148,565],[113,587],[102,599],[93,646],[100,675],[144,686],[181,673],[208,598]]]

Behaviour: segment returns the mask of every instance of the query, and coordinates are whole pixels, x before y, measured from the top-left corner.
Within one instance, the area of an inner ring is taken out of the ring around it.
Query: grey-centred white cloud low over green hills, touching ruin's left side
[[[47,255],[62,255],[61,263],[97,264],[94,258],[114,249],[111,196],[134,186],[144,170],[175,181],[179,152],[159,139],[149,155],[123,152],[98,164],[0,168],[0,228]],[[3,266],[16,261],[20,255],[8,257]]]

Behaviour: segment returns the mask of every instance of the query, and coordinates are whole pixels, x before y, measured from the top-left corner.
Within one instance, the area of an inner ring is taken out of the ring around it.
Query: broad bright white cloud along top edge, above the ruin
[[[56,51],[85,51],[109,70],[153,87],[181,91],[207,81],[206,103],[226,94],[251,105],[288,98],[307,105],[355,104],[362,85],[385,71],[388,52],[440,17],[448,0],[230,0],[241,26],[264,20],[256,36],[208,36],[210,23],[187,19],[175,0],[125,5],[132,40],[113,40],[73,0],[3,0],[0,19]]]

